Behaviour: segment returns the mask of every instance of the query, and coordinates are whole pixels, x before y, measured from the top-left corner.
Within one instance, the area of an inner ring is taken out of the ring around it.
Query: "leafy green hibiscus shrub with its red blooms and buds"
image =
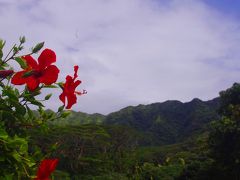
[[[55,52],[44,49],[36,61],[32,56],[43,48],[44,43],[37,44],[29,54],[20,55],[25,37],[19,40],[6,56],[3,53],[5,41],[0,40],[0,179],[44,180],[56,168],[58,159],[47,158],[36,145],[30,148],[28,132],[32,128],[47,128],[46,122],[66,117],[69,113],[64,111],[65,105],[70,109],[77,103],[77,95],[86,91],[75,90],[81,83],[77,80],[78,66],[74,66],[73,77],[68,75],[65,83],[57,82],[60,70],[54,65]],[[20,65],[22,70],[15,71],[10,61]],[[18,86],[23,86],[23,90]],[[52,94],[37,99],[44,88],[62,89],[59,102],[63,105],[57,113],[43,109],[42,102],[49,100]],[[31,110],[31,106],[36,106],[37,110]]]

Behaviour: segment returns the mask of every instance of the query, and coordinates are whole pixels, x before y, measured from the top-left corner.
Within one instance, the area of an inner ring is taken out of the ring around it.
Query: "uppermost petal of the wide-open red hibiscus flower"
[[[56,54],[51,49],[43,50],[38,58],[40,69],[45,69],[47,66],[51,65],[54,62],[56,62]]]

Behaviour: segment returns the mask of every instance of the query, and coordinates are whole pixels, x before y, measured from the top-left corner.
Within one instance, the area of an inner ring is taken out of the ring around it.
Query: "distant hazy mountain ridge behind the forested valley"
[[[166,101],[129,106],[107,116],[73,111],[54,124],[123,125],[137,130],[143,145],[173,144],[206,131],[209,122],[218,119],[219,104],[219,98],[210,101],[195,98],[187,103]]]

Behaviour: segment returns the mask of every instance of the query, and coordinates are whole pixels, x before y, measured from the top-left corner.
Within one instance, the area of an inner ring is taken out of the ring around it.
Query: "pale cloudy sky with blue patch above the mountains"
[[[5,51],[22,35],[25,52],[45,41],[58,81],[79,66],[78,90],[88,94],[73,110],[108,114],[210,100],[239,82],[239,9],[240,0],[0,0],[0,38]],[[53,92],[45,105],[56,110],[61,90]]]

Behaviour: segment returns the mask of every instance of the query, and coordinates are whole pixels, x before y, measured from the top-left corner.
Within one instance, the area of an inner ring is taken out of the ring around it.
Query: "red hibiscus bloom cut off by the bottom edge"
[[[49,176],[56,169],[58,159],[44,159],[37,171],[37,178],[35,180],[50,180]]]

